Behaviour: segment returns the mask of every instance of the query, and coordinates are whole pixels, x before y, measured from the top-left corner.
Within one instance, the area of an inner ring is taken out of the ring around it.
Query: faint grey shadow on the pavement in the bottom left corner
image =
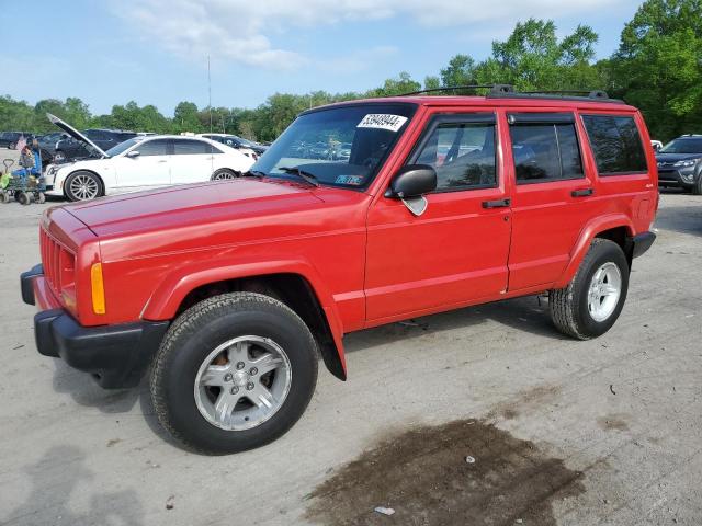
[[[93,493],[87,512],[76,513],[69,502],[77,485],[94,473],[84,466],[86,453],[76,446],[54,446],[26,469],[32,490],[24,501],[0,519],[3,525],[21,524],[144,524],[144,506],[134,490]],[[90,484],[94,488],[94,484]]]

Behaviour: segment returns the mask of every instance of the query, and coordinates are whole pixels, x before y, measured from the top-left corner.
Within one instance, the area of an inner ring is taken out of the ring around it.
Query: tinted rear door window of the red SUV
[[[585,176],[571,114],[510,114],[509,122],[517,184]]]

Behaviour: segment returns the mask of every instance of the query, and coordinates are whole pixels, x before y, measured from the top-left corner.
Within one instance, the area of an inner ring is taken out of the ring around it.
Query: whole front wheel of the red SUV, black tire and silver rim
[[[268,444],[307,408],[317,346],[303,320],[268,296],[206,299],[171,325],[150,390],[161,425],[188,447],[229,454]]]

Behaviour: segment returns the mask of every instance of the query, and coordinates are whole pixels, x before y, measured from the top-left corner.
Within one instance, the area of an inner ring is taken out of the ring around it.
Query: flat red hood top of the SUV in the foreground
[[[100,237],[166,235],[202,229],[203,225],[287,214],[319,205],[305,185],[237,179],[135,192],[65,206]],[[165,237],[165,236],[162,236]]]

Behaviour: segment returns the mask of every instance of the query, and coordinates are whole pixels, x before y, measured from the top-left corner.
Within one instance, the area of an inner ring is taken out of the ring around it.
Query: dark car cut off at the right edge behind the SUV
[[[702,195],[702,135],[683,135],[656,152],[658,186]]]

